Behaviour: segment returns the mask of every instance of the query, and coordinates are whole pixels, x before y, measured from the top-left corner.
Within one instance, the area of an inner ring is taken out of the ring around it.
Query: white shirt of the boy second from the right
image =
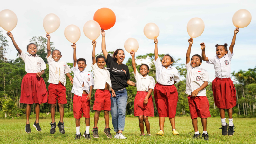
[[[209,81],[208,72],[200,67],[192,67],[191,63],[186,64],[187,68],[187,78],[186,78],[186,94],[191,95],[191,93],[200,88],[204,81]],[[202,89],[198,92],[197,96],[206,96],[206,89]]]

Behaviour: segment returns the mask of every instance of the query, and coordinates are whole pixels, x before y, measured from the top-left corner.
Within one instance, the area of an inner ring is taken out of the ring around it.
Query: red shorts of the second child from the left
[[[67,104],[67,97],[66,97],[66,87],[62,84],[50,84],[48,87],[49,90],[49,97],[48,97],[48,104]]]

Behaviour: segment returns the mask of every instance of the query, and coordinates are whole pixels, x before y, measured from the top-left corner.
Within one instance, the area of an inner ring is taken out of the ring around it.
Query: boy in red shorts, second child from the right
[[[195,130],[193,138],[201,138],[201,134],[197,127],[197,117],[200,117],[203,126],[202,137],[204,140],[208,140],[209,135],[207,133],[206,126],[207,118],[211,116],[205,88],[208,86],[209,76],[206,70],[199,67],[202,64],[202,57],[200,55],[195,54],[190,59],[193,39],[190,38],[188,42],[189,47],[186,54],[186,94],[188,95],[190,117]]]

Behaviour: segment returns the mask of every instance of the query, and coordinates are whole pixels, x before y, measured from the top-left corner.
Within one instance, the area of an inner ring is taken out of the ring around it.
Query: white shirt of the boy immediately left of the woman
[[[103,69],[100,69],[95,63],[94,65],[91,64],[92,71],[94,74],[94,86],[93,89],[105,89],[105,83],[109,85],[109,90],[111,91],[111,79],[110,79],[110,72],[108,68],[104,67]]]

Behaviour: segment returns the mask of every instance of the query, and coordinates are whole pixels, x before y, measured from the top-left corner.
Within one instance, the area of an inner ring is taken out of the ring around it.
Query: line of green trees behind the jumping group
[[[47,69],[45,70],[45,74],[42,75],[46,87],[50,83],[48,83],[49,78],[49,67],[46,60],[46,46],[47,39],[44,36],[33,36],[30,39],[31,43],[35,43],[38,47],[37,54],[45,61]],[[54,43],[51,42],[51,49],[54,50]],[[8,49],[8,41],[5,36],[3,36],[3,32],[0,31],[0,118],[21,118],[26,115],[26,105],[19,103],[20,100],[20,90],[21,90],[21,81],[23,76],[26,74],[25,72],[25,63],[21,58],[16,58],[14,60],[9,60],[6,58]],[[102,53],[100,53],[102,55]],[[109,54],[113,54],[113,52],[109,52]],[[18,55],[18,54],[17,54]],[[99,55],[99,54],[97,54]],[[162,58],[165,54],[159,55]],[[91,58],[91,57],[90,57]],[[138,55],[136,60],[150,59],[149,75],[155,78],[155,65],[153,63],[154,53],[149,53],[145,55]],[[179,100],[177,105],[177,113],[178,116],[189,116],[189,106],[186,90],[186,68],[185,64],[180,64],[179,61],[181,59],[174,60],[174,66],[178,69],[181,77],[181,81],[175,84],[179,94]],[[73,63],[67,63],[70,68],[73,67]],[[131,81],[136,82],[133,75],[133,68],[131,63],[131,58],[128,59],[126,65],[129,67],[129,71],[131,74]],[[139,69],[139,65],[137,65],[137,69]],[[70,75],[73,76],[73,72],[70,72]],[[252,69],[248,69],[247,71],[240,70],[238,72],[232,72],[232,78],[237,82],[234,82],[235,88],[237,91],[237,105],[233,108],[234,117],[256,117],[256,67]],[[67,78],[68,80],[68,78]],[[156,81],[156,80],[155,80]],[[64,105],[65,113],[73,112],[73,93],[71,93],[72,85],[69,81],[66,83],[66,97],[67,103]],[[219,116],[219,108],[214,105],[213,93],[211,90],[211,82],[209,82],[207,90],[207,98],[210,104],[210,113],[212,117]],[[127,110],[126,115],[133,115],[133,104],[135,95],[137,93],[136,87],[129,86],[127,88],[128,100],[127,100]],[[94,103],[94,94],[95,90],[92,92],[91,99],[91,112],[93,112],[93,103]],[[152,96],[154,97],[153,93]],[[41,104],[40,111],[41,113],[50,112],[50,104]],[[157,109],[154,102],[155,116],[157,116]],[[58,108],[56,108],[58,111]],[[34,113],[34,105],[32,106],[31,113]]]

